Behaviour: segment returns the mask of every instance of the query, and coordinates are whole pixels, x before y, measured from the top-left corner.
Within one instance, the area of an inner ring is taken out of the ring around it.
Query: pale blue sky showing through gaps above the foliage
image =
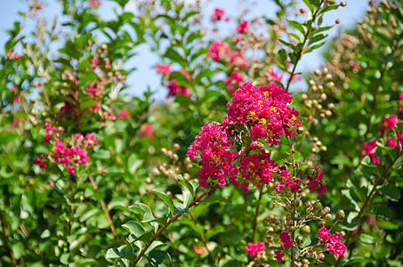
[[[186,0],[189,1],[189,0]],[[44,9],[49,15],[54,15],[60,13],[60,5],[56,4],[56,0],[47,0],[49,5]],[[101,16],[108,20],[114,16],[113,5],[107,0],[102,1],[103,4],[99,10]],[[202,11],[206,17],[214,11],[215,7],[223,8],[230,16],[230,18],[236,18],[239,14],[240,6],[239,3],[242,1],[237,0],[211,0],[206,1],[204,10]],[[259,14],[266,14],[273,16],[275,13],[275,5],[271,4],[270,0],[255,0],[254,5],[251,7],[250,16],[255,16]],[[346,0],[347,6],[339,8],[334,12],[326,13],[323,25],[333,25],[334,20],[340,19],[341,23],[336,27],[332,28],[328,34],[328,38],[331,36],[336,36],[340,28],[351,28],[354,24],[361,19],[367,10],[367,0]],[[5,40],[7,38],[6,30],[12,28],[12,24],[16,20],[20,20],[20,15],[18,12],[26,11],[27,5],[24,0],[0,0],[0,46],[3,47]],[[302,3],[302,1],[301,1]],[[133,7],[133,4],[129,4]],[[304,6],[302,3],[301,6]],[[248,17],[246,17],[247,19]],[[231,25],[235,27],[235,25]],[[323,60],[321,57],[321,52],[326,49],[326,46],[320,50],[314,51],[302,57],[302,61],[299,63],[298,71],[307,71],[312,69],[317,69],[323,65]],[[149,87],[152,92],[156,92],[156,98],[163,98],[166,95],[165,88],[159,85],[160,77],[153,69],[158,61],[157,57],[149,52],[146,44],[141,44],[141,46],[136,47],[135,51],[138,53],[133,57],[133,61],[129,62],[129,65],[134,65],[138,69],[133,72],[129,77],[127,77],[127,82],[132,85],[128,89],[128,93],[133,95],[140,95],[142,92],[147,90]],[[131,67],[131,66],[127,66]],[[298,83],[294,86],[299,86]],[[297,89],[297,88],[294,88]]]

